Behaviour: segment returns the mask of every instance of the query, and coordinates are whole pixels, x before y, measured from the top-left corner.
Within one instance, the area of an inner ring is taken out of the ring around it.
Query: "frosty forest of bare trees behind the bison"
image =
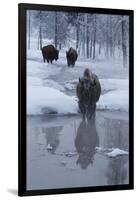
[[[123,66],[128,64],[129,56],[128,16],[34,11],[27,12],[27,47],[31,48],[31,38],[37,38],[37,49],[49,39],[61,50],[73,46],[79,55],[96,59],[121,58]],[[68,46],[69,47],[69,46]]]

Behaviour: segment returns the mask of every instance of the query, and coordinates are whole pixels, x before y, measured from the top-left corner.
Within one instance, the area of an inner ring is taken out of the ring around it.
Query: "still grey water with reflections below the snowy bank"
[[[27,117],[27,189],[119,185],[129,182],[129,158],[109,158],[96,147],[129,147],[128,113]]]

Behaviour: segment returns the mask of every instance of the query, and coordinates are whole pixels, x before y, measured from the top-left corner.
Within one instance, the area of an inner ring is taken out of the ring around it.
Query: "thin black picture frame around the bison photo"
[[[113,185],[113,186],[96,186],[96,187],[80,187],[80,188],[60,188],[60,189],[44,189],[30,190],[26,188],[26,11],[27,10],[48,10],[48,11],[68,11],[68,12],[87,12],[101,14],[116,14],[129,16],[129,184]],[[59,5],[39,5],[24,4],[18,5],[18,71],[19,71],[19,129],[18,129],[18,195],[46,195],[61,193],[80,193],[80,192],[97,192],[97,191],[114,191],[129,190],[134,188],[134,11],[122,9],[108,8],[87,8],[87,7],[71,7]]]

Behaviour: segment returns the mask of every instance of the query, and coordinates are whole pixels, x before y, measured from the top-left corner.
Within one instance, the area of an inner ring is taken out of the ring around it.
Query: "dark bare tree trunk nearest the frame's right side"
[[[123,67],[125,67],[127,64],[127,46],[126,46],[126,30],[125,30],[126,27],[125,26],[126,26],[126,21],[123,19],[121,23]]]

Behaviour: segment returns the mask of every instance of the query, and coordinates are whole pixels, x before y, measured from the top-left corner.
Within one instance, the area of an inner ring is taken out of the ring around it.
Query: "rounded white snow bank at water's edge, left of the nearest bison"
[[[78,104],[74,97],[59,90],[30,86],[27,88],[27,114],[41,115],[47,113],[76,114]]]

